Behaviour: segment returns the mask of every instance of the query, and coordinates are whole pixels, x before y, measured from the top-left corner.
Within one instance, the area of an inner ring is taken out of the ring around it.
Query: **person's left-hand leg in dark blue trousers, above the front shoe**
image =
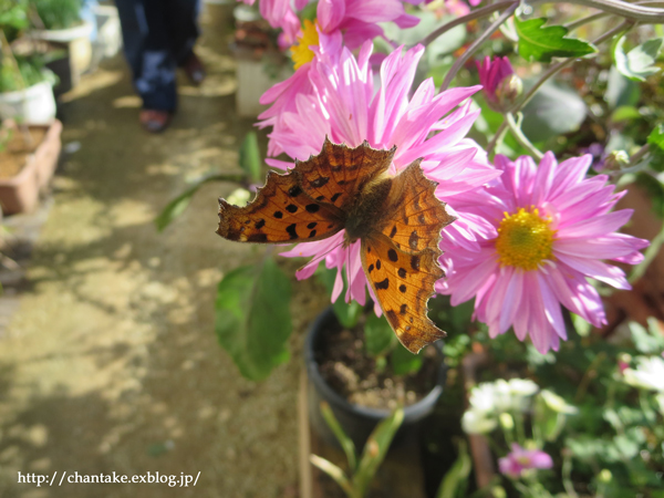
[[[163,0],[115,0],[124,52],[143,108],[173,113],[177,104],[176,61]]]

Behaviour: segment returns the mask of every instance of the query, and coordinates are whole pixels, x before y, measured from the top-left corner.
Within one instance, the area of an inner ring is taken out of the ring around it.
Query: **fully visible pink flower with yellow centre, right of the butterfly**
[[[560,164],[550,152],[539,167],[530,157],[496,156],[502,176],[489,188],[488,203],[464,206],[485,218],[494,234],[479,252],[446,247],[447,278],[436,289],[456,305],[475,298],[476,317],[495,338],[513,326],[538,351],[558,350],[567,339],[560,305],[595,326],[605,323],[600,294],[587,279],[630,289],[621,269],[603,259],[635,264],[647,240],[618,234],[631,209],[609,212],[622,194],[608,177],[585,178],[592,157]]]

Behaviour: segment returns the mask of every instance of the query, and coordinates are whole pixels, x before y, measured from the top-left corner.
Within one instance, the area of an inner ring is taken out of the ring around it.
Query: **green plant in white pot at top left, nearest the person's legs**
[[[79,83],[92,61],[90,40],[94,24],[81,19],[82,0],[30,0],[29,13],[33,30],[30,35],[49,42],[55,49],[66,49],[72,85]],[[66,69],[63,69],[66,70]],[[61,75],[66,80],[66,75]]]

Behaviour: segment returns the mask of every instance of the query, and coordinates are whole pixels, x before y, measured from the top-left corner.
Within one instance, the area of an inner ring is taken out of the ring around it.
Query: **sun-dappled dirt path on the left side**
[[[219,278],[255,257],[214,234],[216,199],[232,187],[203,188],[162,235],[153,225],[187,177],[237,170],[252,124],[235,116],[225,30],[204,28],[209,77],[180,86],[164,135],[139,129],[121,59],[69,96],[63,142],[81,148],[56,178],[29,289],[0,339],[1,497],[295,496],[298,350],[324,297],[294,286],[293,360],[247,382],[212,331]],[[186,489],[37,488],[18,471],[200,477]]]

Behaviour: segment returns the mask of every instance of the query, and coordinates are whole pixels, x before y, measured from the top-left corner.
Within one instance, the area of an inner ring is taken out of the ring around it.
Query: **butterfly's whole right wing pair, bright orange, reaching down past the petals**
[[[419,162],[394,178],[385,217],[362,240],[362,266],[385,318],[402,344],[417,353],[446,334],[427,317],[438,264],[440,230],[454,221],[435,197],[437,184]]]

